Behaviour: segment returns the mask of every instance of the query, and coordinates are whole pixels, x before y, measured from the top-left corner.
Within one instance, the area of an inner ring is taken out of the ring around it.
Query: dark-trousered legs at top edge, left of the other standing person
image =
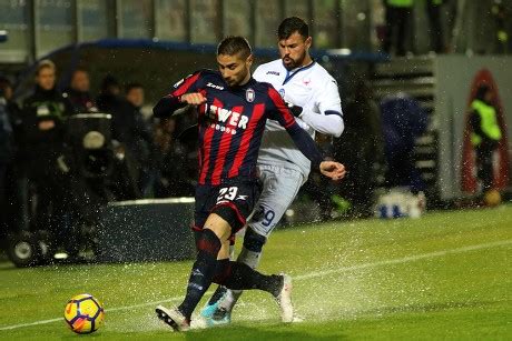
[[[430,1],[430,0],[429,0]],[[384,0],[386,8],[386,30],[382,49],[391,53],[393,42],[396,56],[405,56],[406,34],[411,31],[413,0]]]

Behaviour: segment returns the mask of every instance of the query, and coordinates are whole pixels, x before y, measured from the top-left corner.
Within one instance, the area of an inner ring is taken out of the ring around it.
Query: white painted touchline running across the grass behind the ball
[[[347,272],[347,271],[368,269],[368,268],[390,265],[390,264],[401,264],[401,263],[414,262],[414,261],[429,259],[429,258],[443,257],[443,255],[451,254],[451,253],[462,253],[462,252],[469,252],[469,251],[474,251],[474,250],[482,250],[482,249],[490,249],[490,248],[495,248],[495,247],[503,247],[503,245],[509,245],[509,244],[512,244],[512,240],[502,240],[502,241],[496,241],[496,242],[490,242],[490,243],[483,243],[483,244],[456,248],[456,249],[451,249],[451,250],[442,250],[442,251],[429,252],[429,253],[410,255],[410,257],[404,257],[404,258],[397,258],[397,259],[392,259],[392,260],[387,260],[387,261],[364,263],[364,264],[358,264],[358,265],[354,265],[354,267],[344,267],[344,268],[326,270],[326,271],[317,271],[317,272],[312,272],[312,273],[308,273],[308,274],[295,275],[294,280],[306,280],[306,279],[324,277],[324,275],[332,274],[332,273],[337,273],[337,272]],[[152,301],[152,302],[134,304],[134,305],[111,308],[111,309],[106,309],[105,311],[108,312],[108,311],[130,310],[130,309],[135,309],[135,308],[149,307],[149,305],[155,305],[155,304],[159,304],[159,303],[178,301],[179,299],[180,298],[171,298],[171,299],[167,299],[167,300],[160,300],[160,301]],[[0,327],[0,331],[19,329],[19,328],[24,328],[24,327],[39,325],[39,324],[53,323],[53,322],[57,322],[57,321],[62,321],[62,318],[50,319],[50,320],[41,320],[41,321],[36,321],[36,322],[30,322],[30,323],[20,323],[20,324]]]

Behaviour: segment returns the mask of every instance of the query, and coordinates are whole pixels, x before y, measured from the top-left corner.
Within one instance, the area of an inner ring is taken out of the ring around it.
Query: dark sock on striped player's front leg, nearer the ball
[[[190,321],[191,313],[211,284],[217,271],[220,240],[211,230],[203,230],[197,239],[197,259],[190,271],[187,293],[178,310]]]

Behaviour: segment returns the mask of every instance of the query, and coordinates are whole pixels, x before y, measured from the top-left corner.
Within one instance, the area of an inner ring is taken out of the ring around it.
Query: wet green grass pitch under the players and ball
[[[294,278],[304,322],[289,325],[268,294],[250,291],[230,327],[170,333],[154,307],[178,303],[190,264],[0,263],[0,339],[512,340],[512,205],[275,231],[260,270]],[[63,320],[2,330],[60,319],[82,292],[107,309],[95,334],[76,335]]]

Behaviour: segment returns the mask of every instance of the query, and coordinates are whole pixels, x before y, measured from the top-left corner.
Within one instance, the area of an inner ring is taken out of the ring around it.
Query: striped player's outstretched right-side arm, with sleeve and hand
[[[272,119],[278,121],[279,124],[286,129],[298,150],[301,150],[301,152],[312,162],[312,169],[314,171],[319,171],[322,174],[333,180],[342,179],[345,175],[345,167],[335,161],[324,161],[315,141],[295,121],[294,116],[280,98],[279,93],[270,87],[268,94],[273,102],[273,107],[275,108],[275,110],[270,111],[270,114],[273,116]]]

